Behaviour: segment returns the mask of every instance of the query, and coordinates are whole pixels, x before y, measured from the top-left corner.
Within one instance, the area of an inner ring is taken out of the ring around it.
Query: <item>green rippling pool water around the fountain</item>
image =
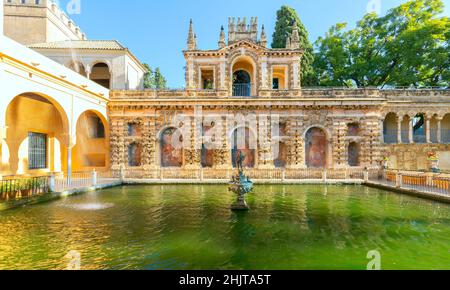
[[[363,186],[126,186],[0,213],[0,269],[450,269],[450,206]]]

